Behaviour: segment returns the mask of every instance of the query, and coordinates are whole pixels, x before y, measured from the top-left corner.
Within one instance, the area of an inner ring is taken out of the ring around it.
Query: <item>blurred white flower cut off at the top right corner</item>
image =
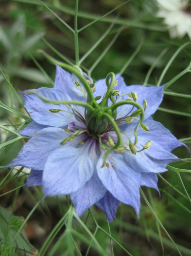
[[[191,10],[188,0],[156,0],[159,11],[157,16],[164,18],[171,38],[184,37],[191,39]]]

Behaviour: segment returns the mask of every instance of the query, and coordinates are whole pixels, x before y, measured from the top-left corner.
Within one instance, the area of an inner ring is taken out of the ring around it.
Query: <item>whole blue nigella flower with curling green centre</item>
[[[79,216],[96,204],[112,221],[120,201],[139,216],[140,186],[158,190],[157,173],[182,145],[151,118],[164,86],[126,86],[113,73],[93,84],[69,70],[57,66],[53,88],[22,93],[33,121],[20,134],[31,138],[9,166],[32,168],[26,187],[45,196],[70,194]]]

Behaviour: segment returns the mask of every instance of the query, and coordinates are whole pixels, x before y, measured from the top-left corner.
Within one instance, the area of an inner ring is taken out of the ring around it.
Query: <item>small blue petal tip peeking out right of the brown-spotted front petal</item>
[[[140,186],[155,188],[159,192],[157,182],[158,177],[156,173],[141,173]]]

